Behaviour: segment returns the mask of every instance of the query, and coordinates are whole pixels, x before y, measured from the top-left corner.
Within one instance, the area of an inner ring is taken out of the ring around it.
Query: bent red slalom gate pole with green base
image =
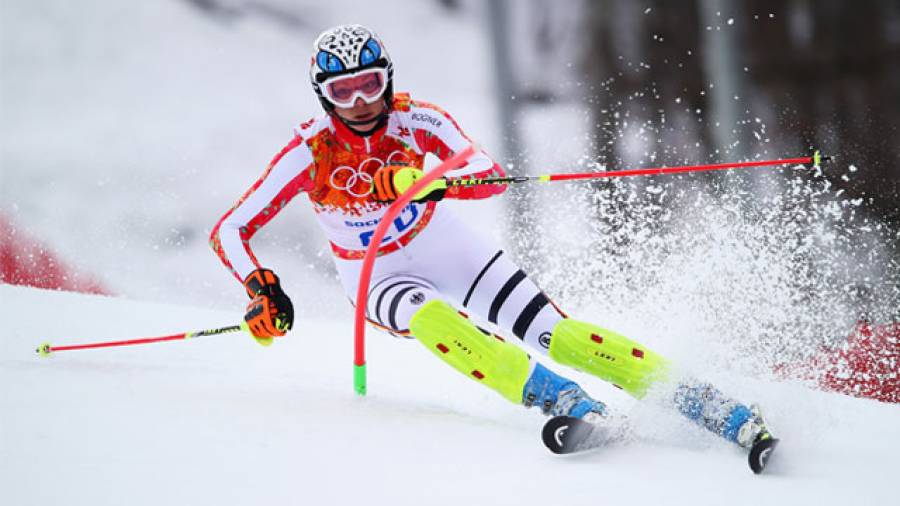
[[[465,161],[475,154],[480,148],[476,144],[470,144],[469,147],[456,153],[450,158],[444,160],[432,170],[429,170],[416,181],[406,192],[388,207],[387,212],[381,218],[375,232],[372,235],[371,242],[366,248],[366,255],[363,258],[363,265],[359,273],[359,285],[356,291],[356,317],[354,320],[354,355],[353,355],[353,389],[359,395],[366,395],[366,304],[369,296],[369,283],[372,280],[372,268],[375,266],[375,257],[378,255],[378,249],[381,247],[381,241],[384,239],[385,233],[394,218],[409,204],[413,197],[420,191],[425,189],[432,181],[443,176],[447,171],[460,167]]]

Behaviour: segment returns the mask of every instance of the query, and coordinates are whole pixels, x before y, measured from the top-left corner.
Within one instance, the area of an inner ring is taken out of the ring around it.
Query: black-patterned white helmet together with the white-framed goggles
[[[375,32],[362,25],[341,25],[322,32],[313,44],[309,77],[326,112],[394,95],[394,66]]]

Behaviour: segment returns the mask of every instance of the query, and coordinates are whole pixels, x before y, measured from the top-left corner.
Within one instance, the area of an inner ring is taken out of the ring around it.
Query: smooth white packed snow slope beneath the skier
[[[270,348],[246,335],[35,354],[234,323],[232,313],[0,285],[0,502],[131,504],[888,504],[900,409],[717,376],[783,438],[766,475],[667,411],[572,373],[630,412],[636,439],[574,457],[543,417],[458,376],[415,341],[303,315]],[[302,314],[301,310],[301,314]]]

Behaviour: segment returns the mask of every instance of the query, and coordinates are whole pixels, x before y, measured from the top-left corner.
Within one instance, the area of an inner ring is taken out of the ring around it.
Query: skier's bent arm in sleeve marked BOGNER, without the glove
[[[411,108],[411,122],[415,126],[415,138],[419,146],[441,160],[462,151],[472,141],[463,133],[450,114],[441,108],[424,103],[414,102]],[[447,178],[484,178],[504,177],[506,172],[483,150],[469,158],[463,167],[445,174]],[[454,186],[448,188],[444,198],[483,199],[503,193],[506,185]]]

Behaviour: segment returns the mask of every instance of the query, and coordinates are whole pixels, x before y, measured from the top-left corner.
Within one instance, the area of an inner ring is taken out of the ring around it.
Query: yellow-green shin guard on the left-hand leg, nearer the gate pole
[[[446,302],[432,300],[416,311],[409,330],[457,371],[521,404],[528,380],[528,355],[521,348],[486,335]]]

